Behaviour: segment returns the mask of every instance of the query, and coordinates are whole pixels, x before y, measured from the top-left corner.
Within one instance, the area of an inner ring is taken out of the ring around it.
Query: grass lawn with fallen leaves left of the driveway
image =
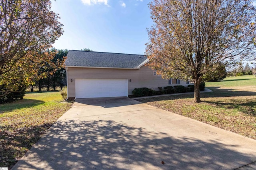
[[[0,167],[14,166],[71,106],[60,92],[31,92],[0,104]]]

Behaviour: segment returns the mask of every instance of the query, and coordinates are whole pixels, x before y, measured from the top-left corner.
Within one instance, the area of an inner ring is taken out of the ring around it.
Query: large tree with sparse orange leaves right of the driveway
[[[148,30],[149,66],[163,78],[194,81],[194,102],[200,102],[203,75],[215,63],[249,56],[255,43],[253,0],[154,0],[154,25]]]

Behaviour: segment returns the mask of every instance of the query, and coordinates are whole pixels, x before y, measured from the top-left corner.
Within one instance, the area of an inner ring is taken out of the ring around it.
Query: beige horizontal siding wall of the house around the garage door
[[[153,75],[153,70],[147,66],[140,69],[114,69],[114,68],[67,68],[68,98],[75,97],[76,78],[95,79],[128,79],[128,95],[132,95],[134,88],[147,87],[158,90],[158,87],[176,86],[168,84],[168,80],[159,75]],[[73,80],[71,82],[71,79]],[[129,81],[131,79],[131,82]],[[180,85],[186,85],[186,81],[180,80]]]

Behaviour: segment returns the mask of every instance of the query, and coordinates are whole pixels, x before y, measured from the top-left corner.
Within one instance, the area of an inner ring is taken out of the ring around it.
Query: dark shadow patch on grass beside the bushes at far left
[[[28,108],[28,107],[37,106],[43,103],[44,101],[42,100],[22,99],[22,100],[18,100],[17,102],[0,104],[0,114],[1,112],[4,112],[4,111],[12,111],[14,109]]]

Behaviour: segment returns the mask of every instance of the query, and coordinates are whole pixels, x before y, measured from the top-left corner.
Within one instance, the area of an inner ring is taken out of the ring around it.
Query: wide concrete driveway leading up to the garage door
[[[233,170],[255,161],[253,139],[129,98],[98,98],[76,100],[13,170]]]

